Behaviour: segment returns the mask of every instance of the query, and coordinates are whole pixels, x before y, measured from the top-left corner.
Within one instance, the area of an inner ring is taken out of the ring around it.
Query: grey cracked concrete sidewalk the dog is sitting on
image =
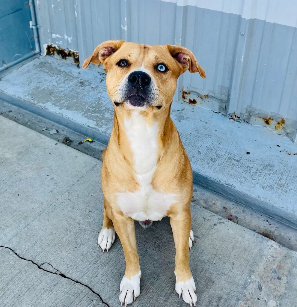
[[[0,116],[0,306],[119,306],[116,239],[97,247],[101,162]],[[200,307],[297,306],[297,253],[192,204]],[[187,306],[174,290],[168,219],[136,223],[142,270],[133,306]]]

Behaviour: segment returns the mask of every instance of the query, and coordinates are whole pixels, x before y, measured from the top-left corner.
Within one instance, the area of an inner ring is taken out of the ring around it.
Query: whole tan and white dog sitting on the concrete
[[[83,63],[102,64],[114,105],[114,125],[101,170],[103,226],[98,245],[110,249],[118,234],[126,261],[120,285],[125,306],[140,294],[141,270],[134,220],[147,227],[170,217],[176,248],[176,292],[196,305],[195,282],[189,267],[192,246],[190,204],[192,169],[172,119],[170,107],[176,80],[187,69],[205,71],[188,49],[124,41],[98,45]]]

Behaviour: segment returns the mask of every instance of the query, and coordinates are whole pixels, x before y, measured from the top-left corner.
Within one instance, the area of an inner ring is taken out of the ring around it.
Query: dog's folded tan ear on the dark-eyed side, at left
[[[99,65],[100,63],[103,64],[106,58],[122,46],[123,42],[124,41],[111,40],[99,44],[93,51],[92,55],[84,60],[83,69],[87,68],[91,62],[96,65]]]

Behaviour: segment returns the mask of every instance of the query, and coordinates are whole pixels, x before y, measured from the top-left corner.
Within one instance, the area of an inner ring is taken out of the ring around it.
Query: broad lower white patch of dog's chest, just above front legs
[[[117,193],[118,206],[134,220],[161,220],[170,206],[176,202],[176,194],[156,192],[151,185],[135,192]]]

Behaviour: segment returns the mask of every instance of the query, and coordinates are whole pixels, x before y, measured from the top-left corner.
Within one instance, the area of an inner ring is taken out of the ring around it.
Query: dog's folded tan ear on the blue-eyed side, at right
[[[179,45],[166,45],[172,57],[181,65],[182,72],[187,69],[190,72],[199,72],[200,76],[205,79],[205,70],[197,63],[194,54],[187,48]]]

